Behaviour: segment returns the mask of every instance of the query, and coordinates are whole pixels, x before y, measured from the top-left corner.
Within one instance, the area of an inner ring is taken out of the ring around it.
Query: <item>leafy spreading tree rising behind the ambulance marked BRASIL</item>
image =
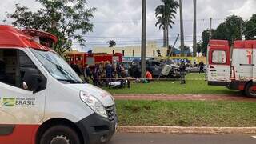
[[[86,0],[37,1],[42,5],[40,10],[33,12],[16,4],[14,14],[7,14],[7,18],[13,18],[12,24],[18,28],[43,30],[56,35],[58,43],[53,48],[58,54],[70,50],[73,40],[85,46],[86,40],[82,35],[93,30],[90,19],[94,18],[96,8],[88,8]]]

